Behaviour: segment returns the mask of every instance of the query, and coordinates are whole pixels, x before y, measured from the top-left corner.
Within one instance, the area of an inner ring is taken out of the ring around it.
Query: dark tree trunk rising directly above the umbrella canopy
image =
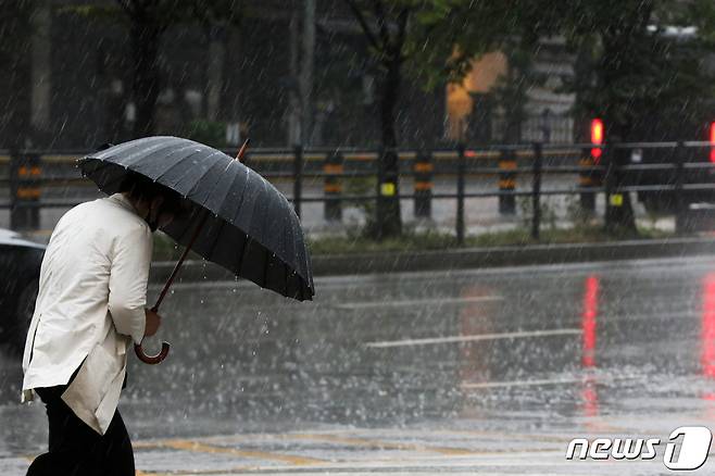
[[[154,111],[160,90],[156,60],[161,27],[152,18],[133,18],[131,49],[134,59],[133,99],[136,108],[135,138],[154,133]]]

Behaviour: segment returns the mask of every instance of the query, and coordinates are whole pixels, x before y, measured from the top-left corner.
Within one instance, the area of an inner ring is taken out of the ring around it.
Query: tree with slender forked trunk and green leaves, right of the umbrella
[[[530,52],[540,35],[557,26],[555,2],[544,0],[343,0],[353,12],[379,65],[381,184],[398,190],[396,104],[402,75],[422,77],[426,88],[459,80],[472,60],[505,45],[516,45],[514,58]],[[515,91],[515,115],[524,104],[524,88]],[[522,95],[522,96],[519,96]],[[379,186],[378,186],[379,187]],[[379,191],[379,189],[378,189]],[[380,197],[375,236],[398,235],[400,208],[394,197]]]

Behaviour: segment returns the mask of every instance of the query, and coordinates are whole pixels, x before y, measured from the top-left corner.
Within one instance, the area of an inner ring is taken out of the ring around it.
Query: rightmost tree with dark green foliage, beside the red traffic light
[[[602,117],[612,143],[694,139],[714,93],[703,62],[713,50],[713,12],[708,1],[602,0],[569,5],[564,32],[577,61],[567,88],[576,93],[576,116]],[[693,25],[700,32],[690,38],[682,29],[673,29]],[[623,149],[609,155],[616,164],[628,156]],[[616,174],[613,185],[624,183],[625,177]],[[609,204],[606,222],[615,230],[636,234],[628,193],[623,198],[620,205]]]

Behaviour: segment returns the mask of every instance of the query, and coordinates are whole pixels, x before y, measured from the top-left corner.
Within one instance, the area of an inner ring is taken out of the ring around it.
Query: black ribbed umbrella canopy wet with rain
[[[178,137],[147,137],[79,159],[84,176],[111,195],[131,172],[175,190],[189,216],[162,228],[187,246],[203,214],[192,250],[237,276],[283,296],[310,300],[313,272],[298,215],[273,185],[225,153]]]

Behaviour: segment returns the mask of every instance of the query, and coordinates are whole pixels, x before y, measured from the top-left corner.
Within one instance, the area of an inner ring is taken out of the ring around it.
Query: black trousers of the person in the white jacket
[[[62,400],[67,385],[35,389],[47,408],[50,444],[47,453],[33,461],[27,475],[135,476],[134,451],[118,410],[100,435]]]

